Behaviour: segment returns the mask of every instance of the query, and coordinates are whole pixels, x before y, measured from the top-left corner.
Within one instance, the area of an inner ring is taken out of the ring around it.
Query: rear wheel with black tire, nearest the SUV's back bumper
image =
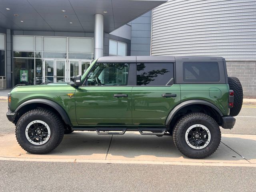
[[[173,141],[178,150],[189,158],[206,158],[220,145],[221,133],[217,122],[203,113],[186,114],[174,126]]]

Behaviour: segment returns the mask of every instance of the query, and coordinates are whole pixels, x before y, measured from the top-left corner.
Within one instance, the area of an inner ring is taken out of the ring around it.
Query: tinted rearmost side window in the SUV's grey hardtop
[[[219,82],[218,62],[183,62],[185,82]]]

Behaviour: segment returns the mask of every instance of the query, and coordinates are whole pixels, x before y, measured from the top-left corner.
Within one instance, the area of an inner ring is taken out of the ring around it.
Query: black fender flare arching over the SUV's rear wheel
[[[168,115],[166,121],[165,121],[165,125],[170,125],[172,118],[176,115],[176,113],[181,110],[182,108],[189,106],[189,105],[194,105],[194,104],[201,104],[201,105],[206,105],[206,106],[210,106],[212,107],[214,110],[216,110],[218,112],[218,114],[220,114],[220,116],[223,116],[222,112],[219,110],[219,108],[212,104],[211,102],[208,101],[204,101],[204,100],[188,100],[188,101],[184,101],[180,104],[178,104],[176,107],[173,108],[173,110],[170,112],[170,114]]]

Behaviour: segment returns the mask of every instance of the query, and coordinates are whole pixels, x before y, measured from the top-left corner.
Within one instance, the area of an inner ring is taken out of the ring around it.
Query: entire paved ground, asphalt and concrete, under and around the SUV
[[[28,154],[18,146],[6,110],[7,102],[0,101],[0,191],[256,189],[254,105],[243,106],[232,130],[221,129],[220,147],[204,160],[182,156],[170,136],[134,132],[113,137],[74,132],[50,154]]]

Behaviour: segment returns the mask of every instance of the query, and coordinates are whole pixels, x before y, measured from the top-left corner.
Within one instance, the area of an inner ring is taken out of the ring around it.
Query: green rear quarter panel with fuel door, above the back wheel
[[[180,84],[181,102],[199,99],[211,102],[224,116],[229,115],[228,84]]]

